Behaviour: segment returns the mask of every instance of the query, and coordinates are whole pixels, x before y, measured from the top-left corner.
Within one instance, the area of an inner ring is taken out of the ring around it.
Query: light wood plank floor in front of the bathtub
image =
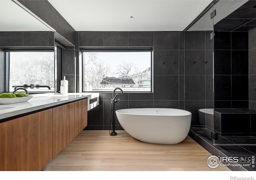
[[[206,164],[211,155],[192,138],[180,144],[150,144],[136,140],[126,131],[82,131],[42,170],[62,171],[172,171],[229,170]]]

